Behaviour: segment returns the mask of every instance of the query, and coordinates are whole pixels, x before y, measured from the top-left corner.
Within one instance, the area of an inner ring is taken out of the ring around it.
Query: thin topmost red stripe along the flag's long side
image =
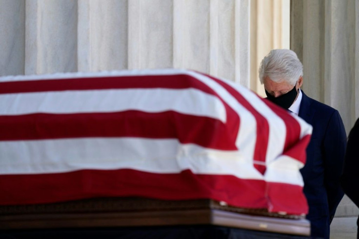
[[[215,92],[201,81],[183,74],[159,76],[103,76],[93,78],[0,82],[0,94],[127,88],[196,88],[208,94],[215,95]]]

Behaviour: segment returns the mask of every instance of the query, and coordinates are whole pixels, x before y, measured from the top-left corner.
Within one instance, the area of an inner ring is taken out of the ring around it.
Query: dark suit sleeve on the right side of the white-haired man
[[[344,196],[340,186],[340,176],[346,142],[344,124],[336,110],[328,122],[324,138],[324,185],[328,196],[330,219],[333,219],[338,204]]]

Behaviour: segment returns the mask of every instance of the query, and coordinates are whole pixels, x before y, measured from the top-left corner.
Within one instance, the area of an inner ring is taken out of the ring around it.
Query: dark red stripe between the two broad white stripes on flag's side
[[[91,114],[31,114],[0,116],[0,140],[83,137],[140,137],[179,139],[204,147],[236,150],[238,122],[231,127],[220,120],[174,111],[124,111]],[[236,127],[237,126],[237,127]]]

